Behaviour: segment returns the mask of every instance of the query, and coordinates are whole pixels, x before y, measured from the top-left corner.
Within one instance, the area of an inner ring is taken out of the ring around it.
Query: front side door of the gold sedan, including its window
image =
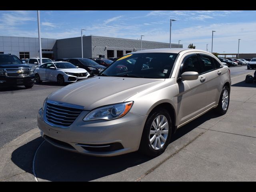
[[[182,80],[176,84],[178,89],[177,116],[179,125],[186,123],[205,110],[206,105],[206,82],[205,74],[202,74],[198,55],[195,53],[184,54],[178,78],[188,71],[198,72],[197,80]]]

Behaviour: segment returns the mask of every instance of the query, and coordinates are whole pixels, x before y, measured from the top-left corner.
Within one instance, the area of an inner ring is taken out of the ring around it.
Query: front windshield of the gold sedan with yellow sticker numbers
[[[169,78],[177,55],[174,53],[128,54],[116,60],[99,76]]]

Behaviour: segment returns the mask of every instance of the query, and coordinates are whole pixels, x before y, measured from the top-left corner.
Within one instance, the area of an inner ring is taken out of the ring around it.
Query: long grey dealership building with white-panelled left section
[[[141,41],[100,36],[83,36],[83,56],[121,57],[141,50]],[[66,39],[41,38],[43,58],[80,58],[82,57],[81,37]],[[142,40],[142,50],[169,48],[169,43]],[[172,48],[183,48],[182,44],[172,44]],[[19,58],[39,57],[38,38],[0,36],[0,54],[14,54]]]

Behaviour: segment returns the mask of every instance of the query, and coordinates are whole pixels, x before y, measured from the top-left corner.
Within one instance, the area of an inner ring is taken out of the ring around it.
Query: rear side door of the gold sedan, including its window
[[[222,65],[212,56],[199,54],[201,71],[207,78],[206,82],[206,108],[218,104],[223,82],[221,76],[226,73]]]

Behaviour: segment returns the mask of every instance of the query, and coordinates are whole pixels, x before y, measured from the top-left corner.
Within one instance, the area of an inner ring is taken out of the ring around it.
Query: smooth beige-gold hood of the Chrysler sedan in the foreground
[[[85,110],[124,102],[132,95],[164,82],[164,79],[94,76],[53,92],[49,100],[84,106]]]

